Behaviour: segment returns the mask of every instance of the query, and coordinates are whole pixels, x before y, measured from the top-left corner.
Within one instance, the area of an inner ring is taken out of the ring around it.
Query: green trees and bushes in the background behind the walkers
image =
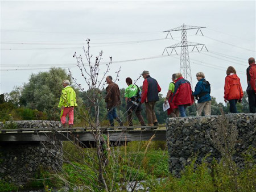
[[[72,82],[71,76],[61,68],[51,68],[48,72],[40,72],[38,74],[31,74],[28,83],[22,86],[16,86],[10,93],[1,95],[0,98],[0,121],[7,120],[59,120],[60,110],[57,108],[59,103],[61,90],[63,89],[62,81],[67,79]],[[88,99],[86,99],[86,91],[81,92],[77,86],[72,85],[77,94],[76,111],[87,111],[93,113],[93,108],[89,108]],[[142,88],[142,87],[141,87]],[[98,90],[103,96],[100,105],[100,119],[102,125],[108,123],[107,110],[104,101],[105,89]],[[121,95],[125,94],[125,88],[120,89]],[[163,111],[162,105],[165,101],[165,97],[159,94],[159,101],[155,105],[155,114],[159,123],[165,123],[167,112]],[[118,115],[122,118],[123,122],[126,122],[126,102],[125,97],[121,97],[121,105],[118,107]],[[146,120],[145,106],[142,105],[143,118]],[[216,98],[212,97],[212,115],[220,115],[220,108],[223,108],[225,113],[229,111],[229,103],[224,106],[223,103],[217,103]],[[242,103],[237,104],[238,112],[249,112],[249,103],[247,100],[246,91],[244,91]],[[195,105],[187,107],[188,116],[196,116]],[[139,124],[138,119],[134,117],[134,124]],[[75,123],[82,125],[84,122],[81,116],[76,115]]]

